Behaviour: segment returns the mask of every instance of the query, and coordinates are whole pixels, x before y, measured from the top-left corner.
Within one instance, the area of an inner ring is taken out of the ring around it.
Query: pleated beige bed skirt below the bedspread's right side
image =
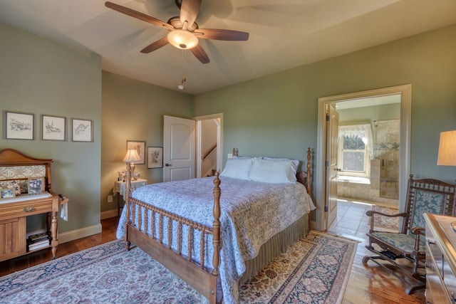
[[[239,280],[239,284],[245,283],[252,276],[256,276],[271,263],[276,256],[284,253],[289,246],[306,236],[309,231],[309,214],[302,216],[283,231],[271,237],[259,248],[258,255],[252,260],[245,261],[246,271]]]

